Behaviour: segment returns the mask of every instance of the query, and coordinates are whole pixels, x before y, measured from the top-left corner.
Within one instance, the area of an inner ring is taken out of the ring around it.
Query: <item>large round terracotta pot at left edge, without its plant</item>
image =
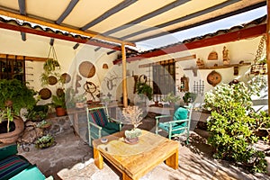
[[[6,133],[0,133],[0,143],[9,144],[16,142],[24,130],[24,121],[22,118],[14,119],[15,130]]]

